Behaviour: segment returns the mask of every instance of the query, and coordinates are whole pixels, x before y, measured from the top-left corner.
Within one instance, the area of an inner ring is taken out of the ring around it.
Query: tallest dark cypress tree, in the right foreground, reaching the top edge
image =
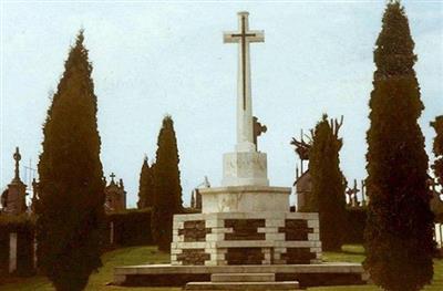
[[[427,156],[418,124],[424,106],[408,18],[398,1],[383,15],[369,106],[369,194],[364,268],[385,290],[414,291],[433,276]]]

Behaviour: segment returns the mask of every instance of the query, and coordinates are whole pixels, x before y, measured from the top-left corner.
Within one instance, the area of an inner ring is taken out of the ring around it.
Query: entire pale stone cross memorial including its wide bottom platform
[[[360,264],[321,263],[318,214],[290,212],[291,188],[269,186],[267,155],[255,144],[266,127],[253,116],[249,51],[265,38],[249,30],[248,12],[238,13],[238,25],[224,33],[224,42],[238,43],[239,53],[237,143],[223,156],[222,186],[199,189],[202,214],[174,216],[171,264],[117,268],[117,284],[131,277],[156,282],[171,276],[186,290],[293,290],[300,279],[301,287],[309,285],[307,278],[313,282],[320,273],[360,283]]]

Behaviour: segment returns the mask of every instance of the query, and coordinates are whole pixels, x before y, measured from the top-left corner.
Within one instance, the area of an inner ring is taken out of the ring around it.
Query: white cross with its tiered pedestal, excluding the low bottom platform
[[[238,13],[237,144],[223,157],[222,187],[200,189],[202,214],[174,216],[172,264],[290,264],[320,261],[317,214],[289,212],[289,187],[269,186],[267,156],[254,143],[248,12]]]

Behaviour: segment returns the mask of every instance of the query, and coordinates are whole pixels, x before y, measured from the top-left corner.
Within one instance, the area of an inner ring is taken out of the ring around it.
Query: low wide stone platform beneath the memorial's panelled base
[[[136,287],[184,287],[188,282],[209,282],[223,273],[275,274],[276,282],[298,281],[300,288],[316,285],[365,284],[368,274],[360,263],[116,267],[114,284]],[[226,283],[226,282],[222,282]]]

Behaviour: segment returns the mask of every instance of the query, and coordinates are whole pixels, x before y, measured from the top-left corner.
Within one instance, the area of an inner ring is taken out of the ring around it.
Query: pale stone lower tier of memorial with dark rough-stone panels
[[[172,264],[308,264],[321,261],[317,214],[174,216]]]

